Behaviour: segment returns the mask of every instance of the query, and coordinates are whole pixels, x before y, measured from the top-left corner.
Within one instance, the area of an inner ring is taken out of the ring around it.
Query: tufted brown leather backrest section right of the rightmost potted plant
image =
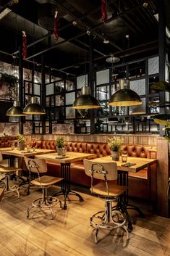
[[[126,151],[129,157],[150,158],[151,146],[124,145],[122,150]]]

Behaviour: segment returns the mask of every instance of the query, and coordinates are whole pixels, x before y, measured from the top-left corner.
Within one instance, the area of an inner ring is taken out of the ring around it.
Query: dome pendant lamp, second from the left
[[[37,97],[31,97],[31,103],[27,104],[23,113],[27,115],[45,115],[46,111],[41,104],[38,103]]]

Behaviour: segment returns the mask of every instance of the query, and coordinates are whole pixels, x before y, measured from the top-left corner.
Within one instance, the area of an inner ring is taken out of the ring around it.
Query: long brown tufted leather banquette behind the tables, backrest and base
[[[34,141],[35,148],[56,149],[56,141]],[[72,142],[68,141],[66,146],[69,152],[93,153],[96,157],[110,155],[110,148],[106,143],[93,142]],[[151,146],[124,145],[129,157],[156,158],[156,150]],[[47,162],[48,175],[60,176],[60,165],[51,161]],[[90,177],[85,175],[85,168],[82,161],[73,162],[71,165],[71,181],[84,186],[90,186]],[[156,165],[152,165],[148,175],[148,169],[140,170],[137,173],[129,173],[129,196],[143,199],[156,198]]]

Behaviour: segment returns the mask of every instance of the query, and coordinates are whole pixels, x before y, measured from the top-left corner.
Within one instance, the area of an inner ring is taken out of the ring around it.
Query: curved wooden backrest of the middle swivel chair
[[[47,165],[45,159],[33,159],[25,157],[25,164],[27,166],[27,170],[33,173],[46,173]]]

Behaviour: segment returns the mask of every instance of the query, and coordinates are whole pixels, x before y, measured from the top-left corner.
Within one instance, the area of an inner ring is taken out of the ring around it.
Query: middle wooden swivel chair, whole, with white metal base
[[[53,186],[55,183],[59,183],[63,178],[41,176],[42,173],[46,173],[47,171],[46,160],[44,159],[32,159],[25,157],[25,164],[30,174],[34,173],[34,175],[38,175],[38,178],[30,181],[30,183],[35,186],[39,186],[42,189],[42,197],[35,199],[32,205],[27,209],[27,218],[30,216],[30,210],[35,207],[41,211],[49,209],[51,211],[51,218],[54,219],[54,212],[52,207],[54,207],[54,205],[57,203],[59,203],[61,207],[61,201],[56,197],[49,197],[48,188]]]

